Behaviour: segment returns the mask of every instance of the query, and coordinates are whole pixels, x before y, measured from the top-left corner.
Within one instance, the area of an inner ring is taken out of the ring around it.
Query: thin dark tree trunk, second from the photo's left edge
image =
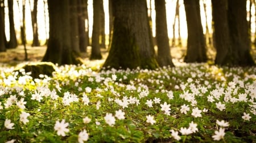
[[[9,10],[9,26],[10,26],[10,40],[8,42],[7,48],[15,48],[18,46],[16,39],[16,33],[14,28],[14,16],[13,16],[13,0],[8,0],[8,10]]]

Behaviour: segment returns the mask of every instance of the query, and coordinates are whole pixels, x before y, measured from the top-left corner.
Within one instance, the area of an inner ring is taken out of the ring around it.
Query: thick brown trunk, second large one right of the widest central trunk
[[[207,54],[199,0],[184,0],[184,6],[188,28],[187,55],[184,61],[188,63],[206,62]]]

